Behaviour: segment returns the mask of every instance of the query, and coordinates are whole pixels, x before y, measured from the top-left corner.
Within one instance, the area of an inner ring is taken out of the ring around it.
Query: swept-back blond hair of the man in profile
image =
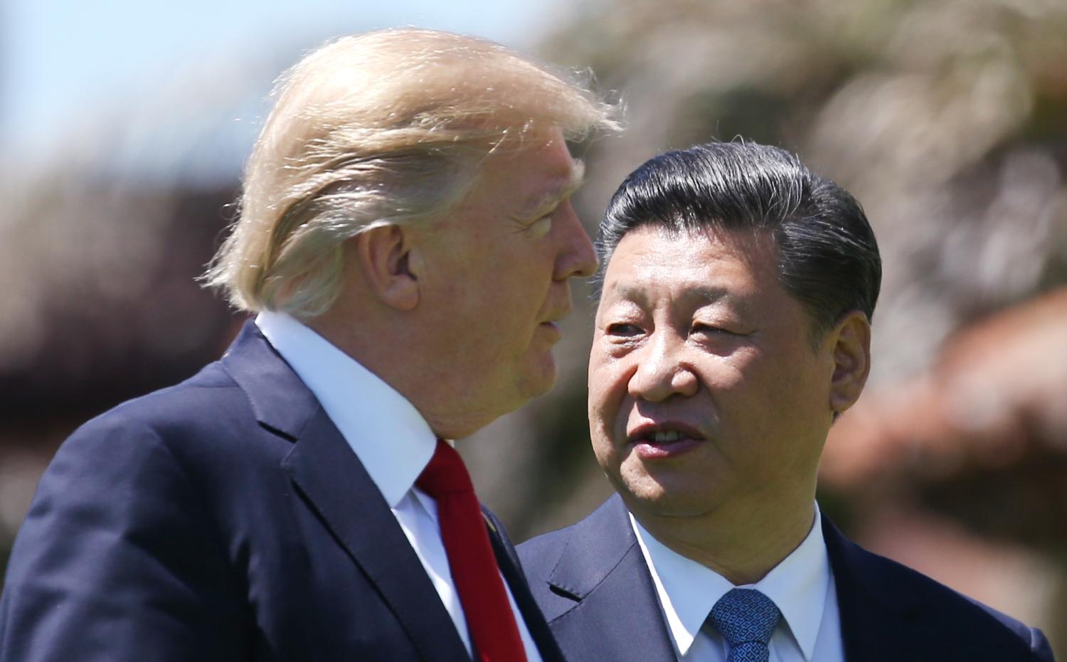
[[[330,308],[341,245],[372,227],[432,223],[493,150],[558,128],[616,128],[583,83],[469,36],[395,29],[312,52],[275,84],[237,220],[203,280],[236,307],[301,319]]]

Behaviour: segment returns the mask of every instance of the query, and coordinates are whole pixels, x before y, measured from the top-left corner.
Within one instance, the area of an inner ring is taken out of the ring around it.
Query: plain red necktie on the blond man
[[[433,458],[415,484],[437,502],[441,539],[478,658],[525,662],[526,649],[460,454],[439,439]]]

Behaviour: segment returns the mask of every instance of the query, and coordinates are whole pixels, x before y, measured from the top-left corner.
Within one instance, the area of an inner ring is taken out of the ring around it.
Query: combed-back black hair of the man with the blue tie
[[[714,142],[646,161],[616,191],[601,222],[596,296],[616,246],[642,226],[769,232],[780,282],[805,307],[815,336],[853,310],[874,316],[881,258],[863,209],[784,149]]]

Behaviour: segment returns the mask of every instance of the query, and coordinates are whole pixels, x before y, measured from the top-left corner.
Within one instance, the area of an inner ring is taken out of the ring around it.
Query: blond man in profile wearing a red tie
[[[296,65],[205,277],[256,318],[60,449],[0,661],[558,659],[446,440],[553,384],[569,279],[596,264],[566,141],[609,110],[440,32]]]

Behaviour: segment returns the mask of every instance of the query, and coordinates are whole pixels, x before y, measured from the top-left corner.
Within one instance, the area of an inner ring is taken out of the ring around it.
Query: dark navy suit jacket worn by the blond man
[[[514,549],[497,562],[559,660]],[[249,323],[62,446],[18,533],[0,661],[469,660],[381,493]]]

